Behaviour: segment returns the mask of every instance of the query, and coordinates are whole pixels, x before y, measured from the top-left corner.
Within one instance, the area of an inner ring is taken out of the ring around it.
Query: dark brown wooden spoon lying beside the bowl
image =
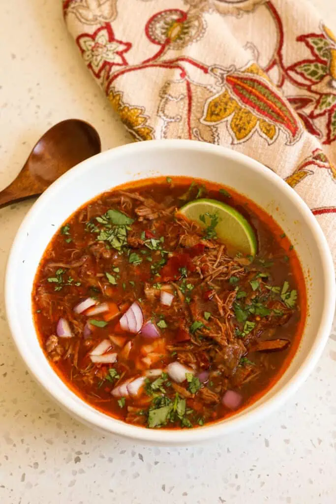
[[[40,195],[60,175],[100,151],[91,124],[79,119],[58,122],[37,142],[16,179],[0,191],[0,208]]]

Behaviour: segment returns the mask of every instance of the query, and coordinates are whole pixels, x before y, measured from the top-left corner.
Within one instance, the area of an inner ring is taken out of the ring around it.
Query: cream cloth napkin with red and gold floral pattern
[[[136,140],[230,146],[295,187],[336,260],[336,38],[306,0],[63,0]]]

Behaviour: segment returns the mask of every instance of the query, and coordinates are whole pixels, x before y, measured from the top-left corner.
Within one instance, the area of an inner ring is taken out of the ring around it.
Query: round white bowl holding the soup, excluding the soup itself
[[[74,211],[109,188],[156,175],[189,175],[222,182],[271,214],[292,240],[306,278],[308,315],[290,366],[258,401],[227,420],[195,429],[145,429],[89,406],[59,379],[39,345],[31,309],[34,276],[54,232]],[[313,303],[312,303],[313,301]],[[187,445],[244,429],[278,408],[307,378],[329,336],[335,306],[333,263],[324,235],[306,204],[278,175],[238,152],[201,142],[164,140],[98,154],[65,173],[37,200],[12,245],[6,308],[15,343],[36,380],[87,425],[157,445]]]

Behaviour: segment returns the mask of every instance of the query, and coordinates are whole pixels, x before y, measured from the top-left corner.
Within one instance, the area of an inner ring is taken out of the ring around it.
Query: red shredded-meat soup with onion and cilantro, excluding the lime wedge
[[[200,195],[248,219],[254,258],[229,256],[216,226],[178,214]],[[104,193],[61,226],[32,309],[46,358],[83,400],[139,426],[188,428],[279,380],[300,342],[306,290],[294,247],[257,205],[216,183],[159,177]]]

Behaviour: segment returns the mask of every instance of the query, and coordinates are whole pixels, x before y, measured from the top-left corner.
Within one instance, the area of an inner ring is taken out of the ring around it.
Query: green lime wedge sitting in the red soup
[[[254,231],[245,217],[230,205],[217,200],[199,199],[181,207],[179,213],[207,229],[209,237],[215,231],[229,253],[255,255],[257,240]]]

